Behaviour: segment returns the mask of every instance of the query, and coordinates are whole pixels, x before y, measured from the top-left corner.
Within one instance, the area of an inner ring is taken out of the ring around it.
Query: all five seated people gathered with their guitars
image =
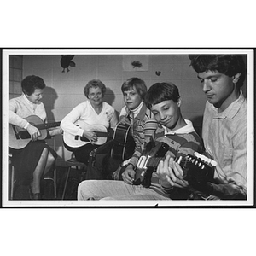
[[[192,122],[183,118],[175,84],[156,83],[147,90],[138,78],[122,84],[125,107],[119,118],[115,109],[103,101],[106,86],[93,79],[84,88],[88,100],[73,108],[61,120],[60,127],[49,130],[50,135],[64,131],[76,139],[84,138],[73,146],[63,142],[77,160],[90,165],[85,180],[79,183],[78,200],[247,199],[247,100],[241,92],[246,70],[242,56],[189,57],[207,96],[202,137]],[[26,121],[30,115],[46,120],[44,104],[40,102],[44,80],[28,76],[21,87],[22,96],[9,100],[9,123],[28,131],[31,142],[25,148],[9,150],[18,177],[31,181],[31,198],[37,200],[41,198],[40,180],[55,163],[56,154],[47,143],[38,140],[38,128]],[[85,126],[80,125],[83,122]],[[111,137],[98,145],[100,135],[93,129],[102,125],[107,134],[113,134],[111,131],[118,124],[131,126],[135,143],[133,154],[125,161],[110,154]],[[109,147],[104,148],[105,145]],[[95,152],[93,165],[91,152]],[[189,171],[185,172],[179,160],[195,152],[216,163],[212,178],[187,178]],[[141,161],[148,154],[147,159],[156,162],[149,166],[148,160],[142,171]],[[152,172],[146,183],[147,169]],[[138,176],[139,171],[144,176]]]

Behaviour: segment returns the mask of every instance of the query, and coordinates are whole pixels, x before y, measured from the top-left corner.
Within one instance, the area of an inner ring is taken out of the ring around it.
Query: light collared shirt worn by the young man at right
[[[247,190],[247,100],[242,93],[222,113],[207,102],[202,137],[217,161],[214,177]]]

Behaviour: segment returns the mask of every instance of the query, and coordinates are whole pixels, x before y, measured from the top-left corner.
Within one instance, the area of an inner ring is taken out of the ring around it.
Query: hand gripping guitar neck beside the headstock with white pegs
[[[166,159],[161,160],[156,171],[163,187],[172,188],[186,188],[189,183],[183,179],[183,169],[174,159],[167,155]]]

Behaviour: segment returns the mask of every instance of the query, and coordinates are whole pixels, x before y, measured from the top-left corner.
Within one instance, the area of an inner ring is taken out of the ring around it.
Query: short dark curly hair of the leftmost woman
[[[44,89],[44,80],[38,76],[31,75],[27,76],[21,81],[21,89],[23,93],[31,96],[36,89]]]

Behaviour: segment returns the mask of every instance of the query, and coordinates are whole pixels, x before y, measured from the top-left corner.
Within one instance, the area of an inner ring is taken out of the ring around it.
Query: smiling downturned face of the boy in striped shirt
[[[167,128],[174,130],[177,128],[177,121],[180,119],[180,100],[173,102],[172,100],[160,102],[152,106],[151,111],[154,114],[154,118],[160,125],[164,125]]]

